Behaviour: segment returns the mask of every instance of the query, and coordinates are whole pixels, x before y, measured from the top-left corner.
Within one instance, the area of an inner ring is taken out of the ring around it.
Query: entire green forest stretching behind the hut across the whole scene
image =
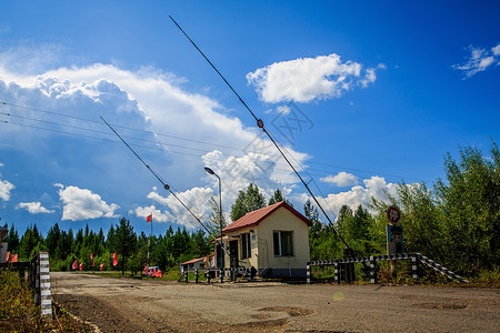
[[[388,201],[371,199],[369,206],[351,209],[342,206],[334,221],[334,229],[359,255],[386,254],[388,224],[386,210],[396,205],[401,211],[406,252],[419,252],[464,276],[482,272],[498,272],[500,259],[500,153],[492,140],[489,155],[474,147],[460,148],[460,159],[450,153],[444,158],[446,180],[438,179],[431,188],[424,183],[397,184],[397,195],[388,194]],[[230,218],[236,221],[248,212],[281,200],[280,190],[267,202],[257,185],[239,191],[231,206]],[[288,201],[288,200],[287,200]],[[209,229],[218,234],[219,208],[212,199]],[[297,208],[296,208],[297,209]],[[303,213],[313,224],[309,229],[311,260],[342,256],[343,244],[331,225],[321,221],[311,201]],[[226,221],[222,221],[226,225]],[[49,251],[51,270],[71,270],[74,260],[83,263],[83,270],[141,271],[148,258],[161,269],[177,268],[179,262],[200,258],[213,251],[210,238],[203,230],[188,232],[170,226],[164,234],[148,236],[136,234],[130,221],[121,218],[104,235],[80,229],[61,230],[54,223],[43,236],[36,224],[22,236],[12,224],[7,236],[8,249],[19,253],[19,260],[29,260],[40,250]],[[112,266],[113,253],[119,264]],[[91,259],[91,254],[92,258]]]

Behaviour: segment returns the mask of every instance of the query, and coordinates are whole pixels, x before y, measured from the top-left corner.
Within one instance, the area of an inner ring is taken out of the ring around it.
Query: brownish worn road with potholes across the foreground
[[[194,284],[52,272],[56,302],[102,332],[499,332],[500,290]]]

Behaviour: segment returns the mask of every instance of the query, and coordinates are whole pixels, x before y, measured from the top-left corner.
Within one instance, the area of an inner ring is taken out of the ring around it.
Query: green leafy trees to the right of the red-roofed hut
[[[432,189],[426,184],[397,184],[389,202],[371,199],[369,208],[342,206],[336,229],[359,255],[386,254],[389,205],[401,210],[406,252],[420,252],[468,276],[500,269],[500,153],[492,141],[490,155],[474,147],[460,149],[460,160],[448,153],[447,180]],[[370,212],[369,212],[370,210]],[[342,255],[343,244],[334,231],[321,223],[310,203],[304,214],[313,221],[309,230],[311,259]]]

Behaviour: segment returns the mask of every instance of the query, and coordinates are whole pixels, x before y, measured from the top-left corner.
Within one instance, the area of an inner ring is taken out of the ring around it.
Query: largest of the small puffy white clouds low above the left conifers
[[[61,221],[83,221],[99,218],[118,218],[114,211],[118,204],[107,204],[99,194],[78,186],[59,188],[59,198],[63,203]]]

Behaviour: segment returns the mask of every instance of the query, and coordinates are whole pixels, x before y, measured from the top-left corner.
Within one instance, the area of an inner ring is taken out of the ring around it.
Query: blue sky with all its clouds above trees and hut
[[[432,186],[500,137],[498,1],[1,1],[0,223],[200,224],[250,183],[302,212]],[[102,119],[130,144],[141,161]],[[320,216],[326,221],[324,216]]]

